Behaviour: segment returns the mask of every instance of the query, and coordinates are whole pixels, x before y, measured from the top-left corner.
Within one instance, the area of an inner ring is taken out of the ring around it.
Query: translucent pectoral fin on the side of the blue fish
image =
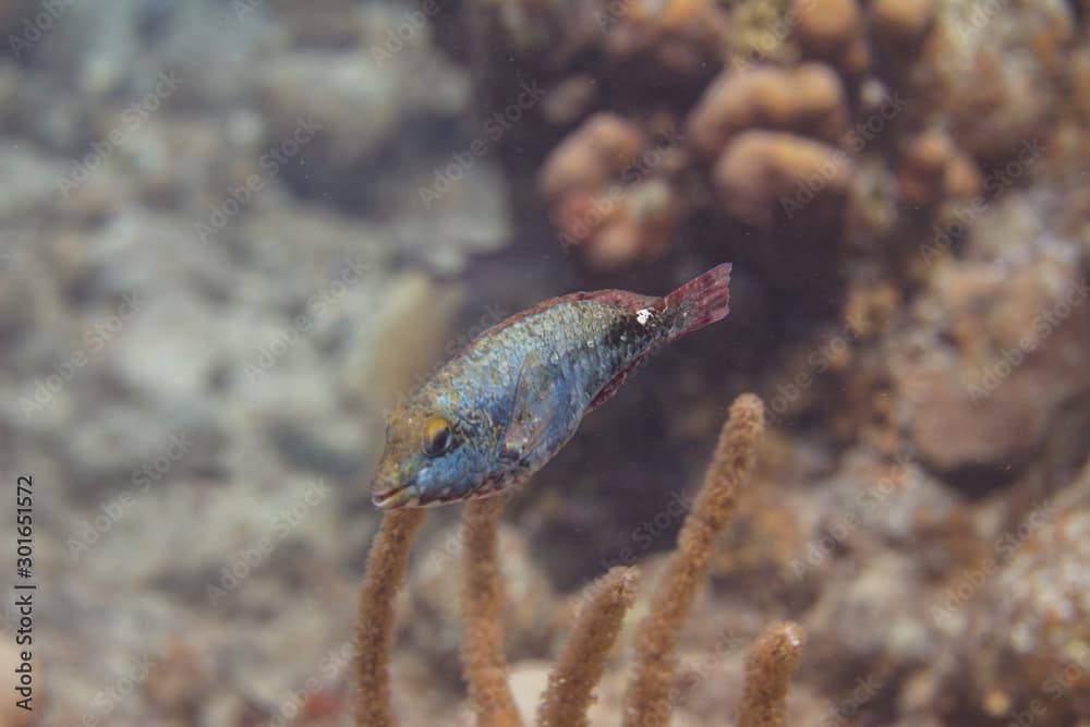
[[[500,459],[514,463],[533,451],[564,405],[559,377],[537,351],[522,360],[514,384],[511,414],[499,444]]]

